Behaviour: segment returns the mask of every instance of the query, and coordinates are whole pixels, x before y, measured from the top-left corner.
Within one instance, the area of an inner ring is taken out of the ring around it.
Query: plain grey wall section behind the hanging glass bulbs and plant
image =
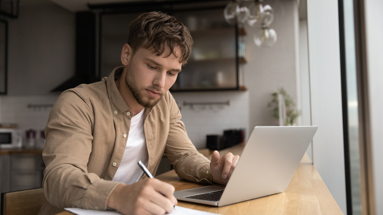
[[[247,36],[244,80],[249,91],[249,127],[278,125],[268,104],[272,93],[283,87],[297,103],[297,54],[298,6],[296,0],[266,0],[274,8],[271,27],[277,33],[272,48],[256,47],[253,35],[259,27],[245,25]]]

